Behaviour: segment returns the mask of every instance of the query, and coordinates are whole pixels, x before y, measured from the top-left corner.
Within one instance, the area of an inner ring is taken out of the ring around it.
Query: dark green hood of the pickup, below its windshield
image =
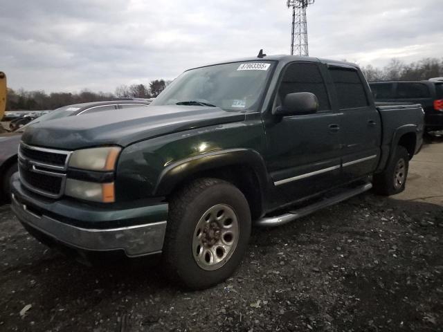
[[[26,129],[22,140],[28,145],[67,150],[98,145],[125,147],[168,133],[244,118],[244,113],[228,112],[218,107],[134,107],[39,122]]]

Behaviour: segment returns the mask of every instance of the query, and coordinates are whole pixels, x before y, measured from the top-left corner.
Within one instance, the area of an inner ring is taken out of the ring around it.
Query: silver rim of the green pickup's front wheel
[[[192,234],[192,256],[204,270],[224,266],[237,247],[239,223],[233,208],[217,204],[201,216]]]

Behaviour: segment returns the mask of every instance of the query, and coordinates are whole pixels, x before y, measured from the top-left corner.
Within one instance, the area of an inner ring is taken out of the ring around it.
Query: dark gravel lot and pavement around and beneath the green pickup
[[[254,230],[237,273],[195,293],[66,259],[3,205],[0,331],[443,331],[443,140],[419,157],[404,194]]]

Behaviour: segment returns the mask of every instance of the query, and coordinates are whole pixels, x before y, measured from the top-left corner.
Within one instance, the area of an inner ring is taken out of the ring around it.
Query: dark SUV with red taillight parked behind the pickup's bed
[[[386,81],[370,82],[376,102],[410,102],[422,104],[426,132],[443,130],[443,82]]]

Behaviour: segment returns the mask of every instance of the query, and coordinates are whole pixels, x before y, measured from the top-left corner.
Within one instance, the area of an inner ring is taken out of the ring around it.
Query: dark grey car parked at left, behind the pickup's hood
[[[25,129],[31,124],[55,120],[67,116],[80,116],[82,114],[90,114],[101,111],[125,110],[133,107],[146,107],[150,102],[141,100],[111,100],[105,102],[87,102],[84,104],[74,104],[55,109],[44,116],[40,116],[35,120],[25,124],[23,127],[12,133],[3,133],[0,135],[0,196],[8,199],[9,196],[9,180],[12,174],[17,172],[17,149],[21,135]]]

